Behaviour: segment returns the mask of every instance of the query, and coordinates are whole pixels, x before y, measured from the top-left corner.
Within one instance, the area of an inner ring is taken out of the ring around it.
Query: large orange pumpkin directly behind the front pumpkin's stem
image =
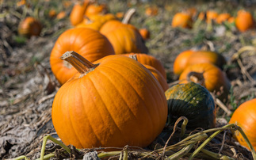
[[[59,59],[63,53],[71,50],[78,51],[91,62],[115,54],[109,40],[94,29],[68,29],[59,36],[50,55],[52,72],[61,84],[77,72],[74,67]]]

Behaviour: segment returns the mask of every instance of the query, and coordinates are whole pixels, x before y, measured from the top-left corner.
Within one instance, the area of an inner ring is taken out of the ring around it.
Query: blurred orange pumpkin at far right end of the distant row
[[[239,10],[235,17],[235,26],[240,32],[254,28],[254,18],[246,10]]]

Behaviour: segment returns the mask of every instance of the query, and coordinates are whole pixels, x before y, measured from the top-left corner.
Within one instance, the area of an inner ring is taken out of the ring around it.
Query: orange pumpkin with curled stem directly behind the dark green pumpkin
[[[226,74],[212,63],[197,63],[186,67],[181,73],[179,81],[180,83],[199,83],[210,92],[216,93],[216,96],[222,101],[227,100],[231,88]]]

